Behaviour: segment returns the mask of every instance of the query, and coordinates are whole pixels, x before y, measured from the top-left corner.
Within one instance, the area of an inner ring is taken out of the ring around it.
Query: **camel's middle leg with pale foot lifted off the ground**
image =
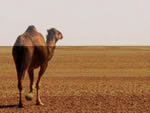
[[[33,69],[32,70],[29,69],[28,74],[29,74],[29,78],[30,78],[30,91],[26,95],[26,100],[30,101],[33,98],[33,90],[34,90],[34,71],[33,71]]]

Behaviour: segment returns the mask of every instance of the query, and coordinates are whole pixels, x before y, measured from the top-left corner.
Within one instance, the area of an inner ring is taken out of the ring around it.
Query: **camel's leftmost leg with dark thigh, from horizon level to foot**
[[[14,46],[13,47],[13,58],[16,65],[17,76],[18,76],[18,89],[19,89],[19,107],[23,106],[22,102],[22,89],[23,79],[25,72],[28,69],[32,59],[33,47],[29,46]]]

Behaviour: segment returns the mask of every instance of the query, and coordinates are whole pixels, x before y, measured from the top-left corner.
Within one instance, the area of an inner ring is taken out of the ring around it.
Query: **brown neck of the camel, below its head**
[[[52,39],[49,42],[47,42],[47,47],[48,47],[48,60],[50,60],[53,57],[54,50],[56,46],[56,40]]]

